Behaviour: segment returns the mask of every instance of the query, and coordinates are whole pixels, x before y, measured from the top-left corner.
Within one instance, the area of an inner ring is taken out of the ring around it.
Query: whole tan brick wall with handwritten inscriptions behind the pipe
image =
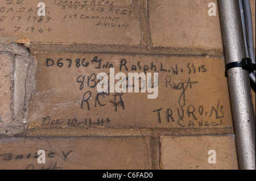
[[[238,169],[217,0],[0,1],[0,169]],[[111,64],[158,98],[98,94]]]

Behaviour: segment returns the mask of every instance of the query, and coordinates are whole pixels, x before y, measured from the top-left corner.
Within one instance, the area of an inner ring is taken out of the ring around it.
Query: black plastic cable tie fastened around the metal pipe
[[[226,75],[228,75],[228,70],[232,68],[242,68],[243,70],[247,70],[250,72],[256,70],[256,65],[251,62],[251,58],[243,58],[240,62],[230,62],[226,64]]]

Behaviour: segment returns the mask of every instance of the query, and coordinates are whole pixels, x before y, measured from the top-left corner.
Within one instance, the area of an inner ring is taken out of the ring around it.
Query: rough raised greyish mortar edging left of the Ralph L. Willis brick
[[[0,51],[10,52],[14,56],[13,115],[10,124],[0,127],[0,135],[16,136],[27,128],[28,106],[36,87],[36,61],[29,50],[20,44],[0,43]]]

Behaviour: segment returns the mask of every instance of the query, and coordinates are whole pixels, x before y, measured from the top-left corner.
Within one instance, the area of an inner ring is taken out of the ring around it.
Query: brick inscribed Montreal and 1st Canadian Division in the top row
[[[0,41],[17,43],[141,43],[138,1],[5,1],[0,6]]]

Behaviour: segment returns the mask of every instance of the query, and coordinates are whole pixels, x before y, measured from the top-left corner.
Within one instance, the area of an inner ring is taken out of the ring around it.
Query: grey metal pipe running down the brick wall
[[[218,0],[226,64],[246,57],[245,41],[237,0]],[[241,170],[255,169],[255,113],[249,72],[242,68],[228,70],[228,82],[238,163]]]

